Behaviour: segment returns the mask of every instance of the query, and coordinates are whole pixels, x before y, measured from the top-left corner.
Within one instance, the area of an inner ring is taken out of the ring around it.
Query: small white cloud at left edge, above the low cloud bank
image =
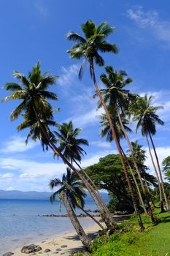
[[[25,140],[26,138],[13,136],[8,141],[2,143],[0,152],[1,153],[19,153],[19,152],[28,151],[31,148],[34,148],[35,146],[37,146],[37,143],[34,143],[34,141],[31,141],[31,140],[26,146]]]

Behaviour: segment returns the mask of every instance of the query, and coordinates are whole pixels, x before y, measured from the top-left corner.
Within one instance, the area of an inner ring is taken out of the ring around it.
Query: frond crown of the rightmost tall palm
[[[141,127],[142,135],[146,135],[148,133],[155,135],[155,124],[164,124],[163,121],[156,114],[156,111],[163,109],[163,107],[153,107],[151,105],[152,99],[153,97],[148,97],[147,94],[145,94],[144,97],[138,97],[132,108],[132,112],[134,112],[133,119],[134,121],[138,121],[136,125],[136,130]]]

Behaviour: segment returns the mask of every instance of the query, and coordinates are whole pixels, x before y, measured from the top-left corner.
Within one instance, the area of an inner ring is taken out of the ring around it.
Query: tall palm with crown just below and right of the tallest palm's
[[[115,112],[117,113],[117,117],[119,119],[121,129],[123,131],[123,134],[125,135],[125,140],[127,141],[128,148],[131,152],[131,158],[133,159],[134,167],[139,177],[139,181],[142,186],[144,197],[147,200],[147,207],[150,210],[150,213],[151,213],[150,216],[151,216],[152,222],[154,222],[152,209],[150,208],[150,202],[148,200],[147,193],[144,188],[144,182],[142,181],[142,176],[139,171],[139,167],[136,163],[136,159],[134,157],[134,153],[131,147],[131,142],[128,138],[128,134],[125,130],[125,127],[123,126],[123,121],[120,116],[120,113],[125,113],[125,110],[127,110],[131,100],[136,98],[136,95],[131,94],[129,90],[125,89],[125,86],[127,86],[129,83],[132,82],[132,79],[127,78],[127,74],[125,71],[121,70],[117,72],[111,66],[105,67],[105,70],[106,70],[106,74],[102,74],[100,78],[101,78],[101,82],[104,84],[106,89],[101,89],[101,94],[104,95],[104,102],[108,103],[111,108],[115,108]],[[100,106],[101,104],[99,102],[98,107]],[[144,208],[145,214],[147,214],[147,210],[144,206],[143,200],[142,200],[142,207]]]

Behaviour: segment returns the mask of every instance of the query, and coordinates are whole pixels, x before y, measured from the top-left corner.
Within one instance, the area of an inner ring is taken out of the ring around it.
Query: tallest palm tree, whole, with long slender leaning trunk
[[[141,230],[143,230],[144,227],[142,224],[142,219],[140,217],[139,210],[136,205],[134,192],[131,187],[131,181],[128,177],[128,171],[126,170],[126,167],[125,167],[123,154],[122,154],[122,151],[120,149],[119,143],[116,138],[115,129],[112,125],[112,119],[109,116],[109,111],[107,110],[107,106],[105,105],[104,99],[101,96],[101,93],[98,89],[98,84],[96,82],[96,75],[94,72],[94,62],[100,67],[104,66],[104,59],[99,55],[98,52],[117,53],[117,45],[109,44],[109,42],[107,42],[107,40],[106,40],[107,37],[109,36],[109,34],[111,34],[113,30],[114,30],[114,28],[109,26],[109,24],[107,24],[106,22],[103,22],[103,23],[99,24],[98,26],[96,26],[95,23],[93,23],[93,21],[88,20],[86,23],[82,24],[82,32],[84,33],[85,37],[80,36],[80,34],[77,34],[76,32],[69,32],[67,34],[67,39],[76,41],[76,43],[73,45],[73,47],[71,49],[69,49],[67,52],[70,54],[70,56],[73,59],[84,58],[82,61],[80,72],[79,72],[80,78],[82,76],[82,69],[85,65],[85,61],[88,61],[89,65],[90,65],[90,75],[91,75],[91,78],[93,79],[93,83],[94,83],[94,86],[96,89],[96,94],[98,94],[98,97],[101,101],[101,105],[104,107],[105,113],[107,114],[107,118],[109,120],[109,125],[112,130],[112,135],[114,137],[114,140],[115,140],[115,143],[117,146],[117,150],[119,152],[120,159],[121,159],[121,162],[123,165],[125,177],[128,182],[128,187],[131,192],[131,197],[132,197],[132,200],[134,203],[136,215],[138,217],[139,226],[141,227]]]

